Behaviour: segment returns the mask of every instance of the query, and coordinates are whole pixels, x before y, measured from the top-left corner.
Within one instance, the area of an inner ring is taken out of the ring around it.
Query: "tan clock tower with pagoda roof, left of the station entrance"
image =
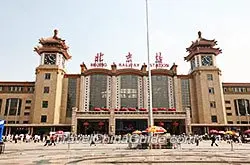
[[[40,65],[36,68],[32,122],[59,124],[65,61],[71,56],[57,30],[52,37],[41,38],[39,43],[35,47],[35,52],[40,55]]]

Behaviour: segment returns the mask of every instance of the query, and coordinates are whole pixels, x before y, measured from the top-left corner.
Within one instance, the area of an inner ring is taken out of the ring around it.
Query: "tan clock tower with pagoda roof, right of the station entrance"
[[[222,51],[216,45],[217,41],[205,39],[198,32],[198,39],[186,49],[188,55],[184,59],[191,65],[192,123],[226,123],[221,71],[216,66],[216,57]]]

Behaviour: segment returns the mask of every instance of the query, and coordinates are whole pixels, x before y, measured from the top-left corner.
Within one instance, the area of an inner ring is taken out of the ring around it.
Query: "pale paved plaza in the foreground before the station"
[[[211,147],[210,141],[182,144],[178,149],[127,149],[127,144],[57,144],[43,146],[43,143],[6,143],[5,153],[0,155],[4,165],[42,164],[250,164],[250,144],[225,142]]]

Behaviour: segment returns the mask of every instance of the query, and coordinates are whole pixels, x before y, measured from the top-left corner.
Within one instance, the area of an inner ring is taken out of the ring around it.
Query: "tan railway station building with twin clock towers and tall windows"
[[[118,134],[148,126],[149,82],[147,65],[140,69],[110,68],[82,63],[80,74],[67,74],[71,58],[65,40],[41,38],[35,82],[0,82],[0,112],[5,133],[44,134],[72,131]],[[209,129],[247,129],[250,83],[221,83],[217,41],[198,39],[187,48],[187,75],[177,65],[151,70],[155,125],[170,133],[205,133]],[[101,56],[101,54],[100,54]],[[98,61],[96,61],[98,62]],[[129,65],[131,66],[131,65]]]

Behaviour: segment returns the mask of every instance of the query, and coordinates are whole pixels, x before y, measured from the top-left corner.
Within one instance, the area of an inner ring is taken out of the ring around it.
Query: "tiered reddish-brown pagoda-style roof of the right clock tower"
[[[214,54],[218,55],[222,53],[220,48],[215,48],[214,46],[217,45],[217,41],[215,39],[208,40],[201,37],[201,32],[198,32],[198,39],[196,41],[192,41],[191,46],[186,48],[189,55],[184,57],[186,61],[189,61],[195,56],[196,54]]]

